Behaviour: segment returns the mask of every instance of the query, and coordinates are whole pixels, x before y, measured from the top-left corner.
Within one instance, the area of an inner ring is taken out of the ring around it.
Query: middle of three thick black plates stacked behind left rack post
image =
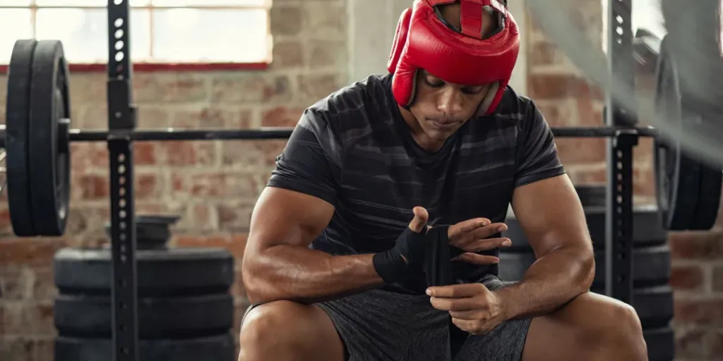
[[[62,336],[110,338],[111,298],[59,295],[54,318]],[[234,299],[226,294],[192,297],[140,297],[138,337],[177,339],[221,334],[231,329]]]

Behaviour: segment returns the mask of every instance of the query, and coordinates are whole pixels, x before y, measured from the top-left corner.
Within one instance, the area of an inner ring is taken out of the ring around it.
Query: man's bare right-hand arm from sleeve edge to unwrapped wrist
[[[568,175],[518,187],[512,206],[537,261],[520,282],[497,291],[503,300],[510,300],[508,318],[543,315],[587,292],[595,275],[595,258],[583,208]]]

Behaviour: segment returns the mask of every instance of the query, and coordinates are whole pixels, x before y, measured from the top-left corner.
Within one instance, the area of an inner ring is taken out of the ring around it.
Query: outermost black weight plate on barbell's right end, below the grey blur
[[[723,170],[701,164],[701,186],[698,193],[696,217],[690,230],[710,230],[718,218],[721,202]]]

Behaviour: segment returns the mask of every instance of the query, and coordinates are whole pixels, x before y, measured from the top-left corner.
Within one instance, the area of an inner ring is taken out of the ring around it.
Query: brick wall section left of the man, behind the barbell
[[[345,7],[344,0],[274,1],[273,65],[265,71],[137,72],[140,128],[294,126],[301,110],[346,83]],[[5,92],[7,79],[0,79]],[[74,128],[107,129],[105,87],[104,73],[72,75]],[[1,94],[2,109],[4,98]],[[181,215],[174,245],[226,247],[240,269],[249,214],[284,144],[137,143],[137,212]],[[14,238],[7,201],[0,201],[2,361],[51,360],[54,252],[106,242],[105,144],[72,144],[72,168],[72,206],[63,238]],[[246,301],[240,275],[236,280],[234,322],[239,324]]]

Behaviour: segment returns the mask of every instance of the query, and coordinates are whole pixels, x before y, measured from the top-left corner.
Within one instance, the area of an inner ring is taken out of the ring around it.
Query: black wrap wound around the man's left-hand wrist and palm
[[[427,237],[406,227],[394,247],[389,251],[376,253],[372,262],[384,282],[403,281],[422,273],[426,248]]]

